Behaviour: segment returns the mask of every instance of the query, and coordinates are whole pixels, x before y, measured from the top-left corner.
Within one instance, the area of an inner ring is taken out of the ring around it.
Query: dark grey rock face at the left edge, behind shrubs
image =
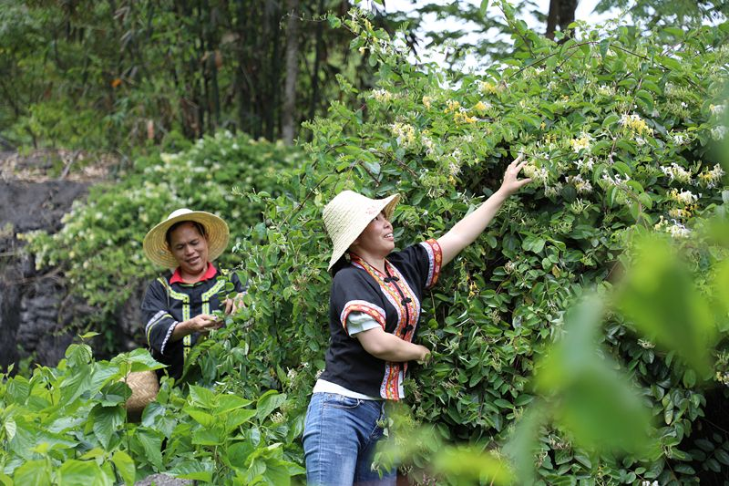
[[[49,180],[42,174],[46,160],[37,155],[23,160],[0,152],[0,369],[26,357],[56,366],[77,333],[69,327],[89,321],[95,313],[69,295],[58,269],[37,271],[17,239],[18,233],[35,230],[56,233],[71,204],[87,195],[90,179]],[[132,336],[139,329],[139,300],[125,305],[119,318],[117,345],[136,347]],[[103,339],[100,336],[98,342]]]

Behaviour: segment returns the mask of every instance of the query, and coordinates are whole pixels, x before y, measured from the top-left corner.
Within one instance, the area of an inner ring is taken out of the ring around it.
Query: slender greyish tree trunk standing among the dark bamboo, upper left
[[[299,0],[286,1],[289,16],[286,28],[286,81],[283,86],[282,139],[293,144],[296,132],[296,77],[299,74]]]

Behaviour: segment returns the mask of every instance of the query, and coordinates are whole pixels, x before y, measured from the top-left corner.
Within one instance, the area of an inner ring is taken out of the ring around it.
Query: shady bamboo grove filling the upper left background
[[[0,142],[128,150],[216,129],[277,139],[284,106],[298,129],[338,98],[335,74],[369,84],[364,58],[321,18],[347,8],[346,0],[3,0]]]

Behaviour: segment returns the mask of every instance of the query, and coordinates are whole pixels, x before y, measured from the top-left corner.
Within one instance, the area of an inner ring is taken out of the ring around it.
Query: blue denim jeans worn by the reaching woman
[[[383,429],[385,402],[314,393],[303,426],[303,454],[309,486],[350,484],[395,486],[395,470],[380,478],[372,470]]]

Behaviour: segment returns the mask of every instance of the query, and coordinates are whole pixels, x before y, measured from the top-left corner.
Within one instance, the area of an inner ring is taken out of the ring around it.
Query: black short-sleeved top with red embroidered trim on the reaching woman
[[[385,332],[406,341],[416,336],[420,301],[436,284],[442,263],[440,245],[428,240],[387,255],[385,274],[356,255],[334,275],[329,299],[330,343],[321,378],[371,397],[400,399],[406,363],[391,363],[364,350],[346,331],[351,312],[364,312]]]

